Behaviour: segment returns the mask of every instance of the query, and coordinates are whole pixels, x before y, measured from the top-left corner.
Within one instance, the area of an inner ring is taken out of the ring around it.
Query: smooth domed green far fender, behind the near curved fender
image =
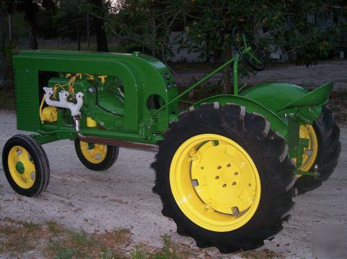
[[[278,113],[283,107],[308,93],[303,87],[291,83],[262,83],[242,92],[240,96],[261,103]]]

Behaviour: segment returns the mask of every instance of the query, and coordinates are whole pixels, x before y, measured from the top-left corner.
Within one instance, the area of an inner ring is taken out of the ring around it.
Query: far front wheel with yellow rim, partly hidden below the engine
[[[119,147],[75,140],[75,150],[82,164],[93,171],[105,171],[117,160]]]

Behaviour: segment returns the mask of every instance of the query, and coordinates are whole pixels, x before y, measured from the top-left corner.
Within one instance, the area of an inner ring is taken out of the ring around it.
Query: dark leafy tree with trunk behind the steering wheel
[[[246,28],[264,49],[281,49],[296,63],[312,65],[328,56],[332,49],[334,29],[323,29],[308,17],[326,17],[339,1],[278,0],[228,1],[195,0],[190,2],[186,33],[190,48],[199,49],[214,58],[232,56],[231,31],[234,26]],[[262,35],[263,34],[263,35]],[[262,35],[262,37],[258,37]],[[194,45],[194,46],[193,46]],[[230,69],[224,74],[223,92],[231,93]]]

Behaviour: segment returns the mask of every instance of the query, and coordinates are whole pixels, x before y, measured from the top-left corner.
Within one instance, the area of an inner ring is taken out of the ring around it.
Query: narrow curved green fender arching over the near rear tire
[[[197,103],[194,103],[193,106],[198,107],[201,103],[214,103],[214,102],[219,102],[222,106],[224,106],[226,103],[233,103],[239,106],[244,106],[246,108],[246,112],[248,113],[251,113],[251,112],[259,113],[270,122],[270,128],[273,131],[277,131],[278,133],[280,133],[283,137],[287,139],[287,135],[288,135],[287,124],[285,124],[285,122],[283,122],[282,119],[280,119],[280,117],[278,117],[276,113],[271,111],[269,108],[266,108],[262,104],[257,103],[256,101],[253,101],[246,97],[240,97],[240,96],[231,95],[231,94],[221,94],[221,95],[208,97],[206,99],[198,101]]]

